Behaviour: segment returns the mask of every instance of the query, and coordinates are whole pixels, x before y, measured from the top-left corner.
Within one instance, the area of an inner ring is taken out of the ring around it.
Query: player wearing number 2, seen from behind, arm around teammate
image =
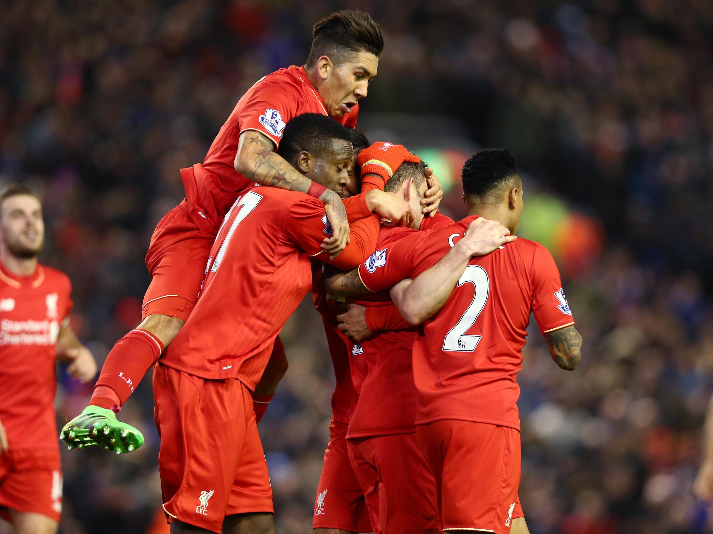
[[[545,247],[506,236],[473,258],[461,245],[464,232],[491,222],[483,217],[517,231],[522,182],[510,153],[469,159],[463,190],[470,216],[396,241],[340,283],[391,287],[401,315],[423,323],[413,350],[416,434],[436,476],[443,530],[509,534],[520,479],[515,378],[530,311],[563,369],[577,367],[582,338]]]

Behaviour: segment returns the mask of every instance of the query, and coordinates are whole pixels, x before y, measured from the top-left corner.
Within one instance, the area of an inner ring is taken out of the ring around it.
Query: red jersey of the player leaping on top
[[[210,145],[203,164],[195,165],[193,172],[181,173],[186,193],[182,205],[199,228],[217,231],[237,193],[252,184],[235,170],[240,134],[257,130],[279,147],[287,122],[302,113],[329,115],[304,67],[281,68],[268,74],[238,100]],[[353,128],[358,115],[356,105],[338,122]]]

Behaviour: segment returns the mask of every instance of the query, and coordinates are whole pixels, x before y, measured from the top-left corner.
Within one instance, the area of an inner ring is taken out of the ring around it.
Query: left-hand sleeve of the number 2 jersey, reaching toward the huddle
[[[414,269],[414,250],[423,239],[420,232],[406,234],[377,250],[359,266],[359,278],[366,288],[378,293],[394,286],[404,278],[411,277]]]

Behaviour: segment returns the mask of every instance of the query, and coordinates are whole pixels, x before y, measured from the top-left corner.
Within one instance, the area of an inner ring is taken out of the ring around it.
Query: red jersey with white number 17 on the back
[[[361,262],[378,225],[379,216],[353,224],[352,242],[334,263],[364,250]],[[254,389],[275,337],[311,286],[309,257],[322,254],[331,235],[322,201],[275,187],[246,189],[211,248],[198,303],[160,361],[203,378],[237,377]]]

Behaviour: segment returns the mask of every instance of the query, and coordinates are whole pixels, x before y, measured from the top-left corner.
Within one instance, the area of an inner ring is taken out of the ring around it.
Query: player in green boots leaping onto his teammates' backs
[[[243,189],[257,182],[321,200],[334,229],[323,248],[332,254],[344,248],[349,226],[339,195],[294,169],[277,148],[285,124],[302,113],[320,113],[354,127],[383,46],[379,25],[369,14],[339,11],[319,21],[305,65],[258,80],[235,106],[204,162],[181,170],[186,198],[159,222],[146,256],[151,283],[143,322],[109,353],[89,407],[66,425],[67,444],[78,446],[72,436],[97,426],[103,432],[94,441],[108,449],[117,450],[115,444],[121,443],[122,452],[143,443],[140,433],[95,408],[117,412],[182,328],[198,298],[220,223]],[[426,211],[434,211],[442,196],[437,179],[432,180]],[[278,350],[281,346],[276,343]]]

